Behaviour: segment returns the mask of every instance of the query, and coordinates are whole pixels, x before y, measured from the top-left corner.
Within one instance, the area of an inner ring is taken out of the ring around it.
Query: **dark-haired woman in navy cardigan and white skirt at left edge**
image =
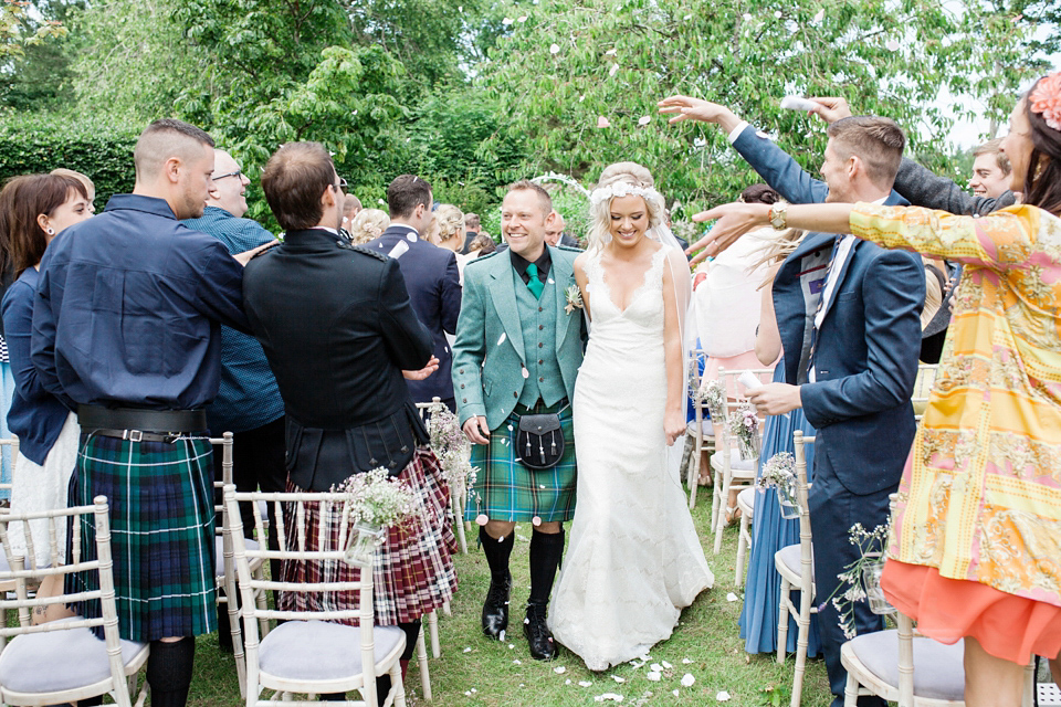
[[[70,475],[77,463],[81,429],[77,416],[41,386],[30,359],[33,333],[33,300],[36,298],[38,268],[44,249],[70,225],[90,218],[88,194],[73,177],[29,175],[15,177],[0,191],[0,247],[10,258],[18,279],[3,295],[3,330],[7,335],[14,395],[7,414],[8,426],[19,437],[11,493],[12,513],[39,513],[66,507]],[[46,520],[30,521],[33,567],[51,563]],[[56,527],[62,560],[66,550],[66,526]],[[15,555],[27,556],[23,526],[10,527],[9,539]],[[62,578],[51,576],[41,582],[39,598],[62,593]],[[71,615],[63,606],[38,606],[33,623]]]

